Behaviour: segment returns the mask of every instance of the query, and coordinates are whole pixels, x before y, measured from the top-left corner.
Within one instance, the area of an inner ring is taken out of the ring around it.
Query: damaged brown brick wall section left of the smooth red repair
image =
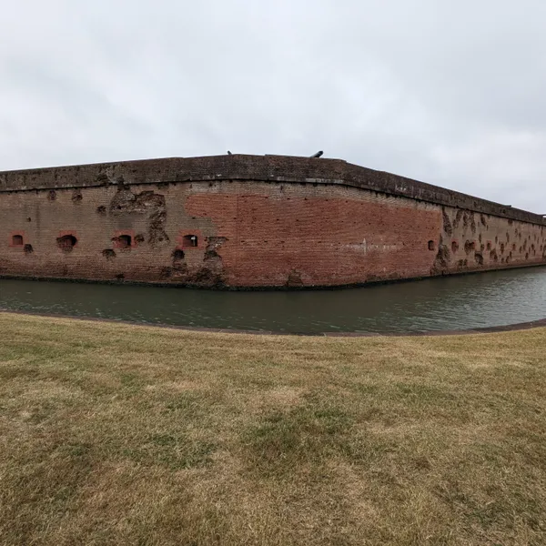
[[[118,182],[80,188],[76,199],[63,188],[54,199],[50,190],[0,194],[0,275],[223,287],[227,237],[187,215],[190,191]],[[187,234],[197,234],[195,247],[186,248]]]

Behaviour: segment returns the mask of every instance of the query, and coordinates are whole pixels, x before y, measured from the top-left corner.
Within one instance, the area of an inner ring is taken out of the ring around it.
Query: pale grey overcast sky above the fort
[[[0,7],[0,170],[322,149],[546,214],[546,0]]]

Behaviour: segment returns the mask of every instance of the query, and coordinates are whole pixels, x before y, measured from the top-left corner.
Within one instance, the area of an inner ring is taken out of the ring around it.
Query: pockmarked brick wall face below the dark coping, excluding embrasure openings
[[[0,275],[336,286],[546,263],[543,230],[339,184],[14,191],[0,194]],[[12,245],[13,234],[24,235],[23,247]],[[74,248],[59,248],[66,234]],[[186,235],[197,236],[196,247]]]

